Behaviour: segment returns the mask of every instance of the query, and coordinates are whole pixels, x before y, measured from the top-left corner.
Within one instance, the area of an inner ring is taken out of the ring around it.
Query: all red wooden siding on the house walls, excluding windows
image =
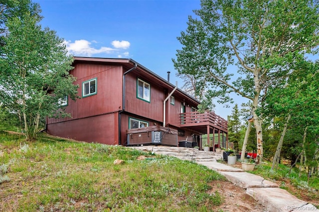
[[[97,79],[97,94],[78,99],[76,102],[68,99],[64,107],[72,117],[47,118],[47,131],[57,135],[88,142],[106,144],[126,144],[126,130],[129,129],[129,117],[149,122],[149,126],[161,126],[163,122],[163,101],[173,90],[173,87],[150,74],[142,66],[138,66],[125,76],[125,102],[122,105],[123,74],[134,67],[125,61],[76,61],[70,74],[77,78],[78,95],[82,97],[82,83]],[[109,63],[108,63],[109,62]],[[137,98],[137,79],[151,86],[151,101]],[[165,122],[170,129],[184,130],[183,135],[177,135],[177,142],[191,141],[193,134],[198,134],[193,124],[188,128],[180,122],[181,105],[185,103],[185,111],[197,107],[198,102],[177,90],[173,95],[175,104],[166,102]],[[124,109],[124,110],[123,110]],[[120,115],[119,115],[120,114]],[[121,119],[119,120],[119,116]],[[119,135],[120,124],[120,135]]]

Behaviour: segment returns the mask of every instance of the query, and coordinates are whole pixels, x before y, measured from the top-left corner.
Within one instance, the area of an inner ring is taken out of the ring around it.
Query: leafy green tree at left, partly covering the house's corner
[[[66,114],[57,105],[59,100],[76,99],[75,79],[68,73],[73,58],[67,55],[63,39],[38,24],[37,4],[8,2],[0,6],[19,12],[8,12],[2,19],[8,33],[1,36],[0,46],[1,104],[20,117],[26,138],[33,140],[43,117]]]

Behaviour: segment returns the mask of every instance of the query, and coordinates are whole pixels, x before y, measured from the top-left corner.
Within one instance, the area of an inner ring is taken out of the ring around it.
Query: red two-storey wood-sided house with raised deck
[[[110,145],[201,146],[209,132],[208,140],[228,145],[226,120],[198,113],[200,102],[134,60],[74,57],[73,67],[81,99],[60,103],[72,117],[47,118],[49,134]]]

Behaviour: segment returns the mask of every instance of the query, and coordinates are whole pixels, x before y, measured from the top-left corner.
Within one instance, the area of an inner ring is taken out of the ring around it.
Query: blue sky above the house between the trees
[[[200,0],[34,0],[41,25],[64,38],[75,56],[132,58],[178,87],[172,58],[182,46],[176,39]],[[239,104],[240,105],[240,104]],[[232,108],[216,106],[227,118]]]

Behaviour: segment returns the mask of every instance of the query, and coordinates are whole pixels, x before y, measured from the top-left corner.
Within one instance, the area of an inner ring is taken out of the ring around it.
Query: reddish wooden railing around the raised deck
[[[211,125],[227,130],[227,121],[211,111],[204,113],[183,112],[180,113],[180,124],[187,126]]]

